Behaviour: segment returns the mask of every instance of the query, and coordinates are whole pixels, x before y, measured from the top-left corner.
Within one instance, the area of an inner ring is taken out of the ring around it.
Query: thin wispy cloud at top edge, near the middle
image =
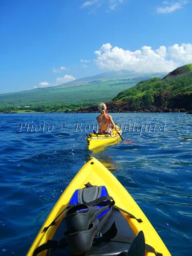
[[[90,0],[85,1],[81,8],[99,8],[102,4],[107,4],[110,10],[114,10],[119,4],[124,3],[126,0]]]

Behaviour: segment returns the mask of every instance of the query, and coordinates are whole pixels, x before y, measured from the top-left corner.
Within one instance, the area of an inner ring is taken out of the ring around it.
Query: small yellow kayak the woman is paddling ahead
[[[116,142],[118,140],[121,140],[121,134],[122,131],[119,128],[119,126],[116,125],[116,129],[113,129],[113,135],[110,134],[98,134],[98,132],[96,133],[90,133],[87,137],[87,145],[88,145],[88,149],[92,150],[95,147],[98,146],[102,146],[102,145],[106,145],[106,144],[111,144],[113,142]]]

